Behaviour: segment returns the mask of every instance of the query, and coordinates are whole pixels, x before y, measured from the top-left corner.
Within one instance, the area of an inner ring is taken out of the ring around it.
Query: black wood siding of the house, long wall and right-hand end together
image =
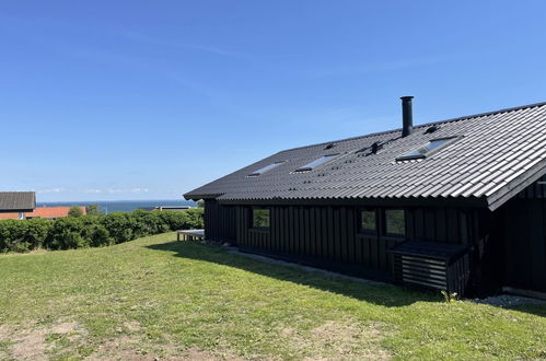
[[[270,229],[252,229],[251,206],[206,201],[209,240],[288,260],[383,280],[391,279],[387,252],[405,240],[471,246],[471,290],[486,295],[501,286],[546,292],[546,186],[532,184],[496,212],[481,208],[405,208],[406,236],[359,233],[358,206],[270,206]],[[369,209],[367,207],[367,209]]]

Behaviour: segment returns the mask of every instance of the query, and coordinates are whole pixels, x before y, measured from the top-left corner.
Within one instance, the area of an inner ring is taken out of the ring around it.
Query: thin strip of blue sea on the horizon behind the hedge
[[[59,202],[37,202],[36,207],[56,207],[56,206],[88,206],[91,203],[98,205],[103,213],[112,212],[132,212],[139,208],[149,207],[179,207],[190,206],[196,207],[197,203],[191,200],[181,199],[152,199],[152,200],[97,200],[97,201],[59,201]]]

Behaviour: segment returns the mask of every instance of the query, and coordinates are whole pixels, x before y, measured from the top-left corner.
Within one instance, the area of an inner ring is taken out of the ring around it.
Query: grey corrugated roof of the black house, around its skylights
[[[426,133],[431,125],[439,129]],[[479,199],[496,209],[546,173],[546,103],[281,151],[184,195],[187,199]],[[462,138],[423,160],[396,161],[431,139]],[[376,154],[357,151],[386,142]],[[335,143],[332,149],[325,149]],[[307,173],[298,167],[339,153]],[[254,171],[281,165],[258,176]]]

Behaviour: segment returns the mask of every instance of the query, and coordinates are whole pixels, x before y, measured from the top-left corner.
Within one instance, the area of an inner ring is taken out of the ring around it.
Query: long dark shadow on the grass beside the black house
[[[381,283],[364,283],[322,272],[307,271],[298,265],[277,265],[242,255],[232,254],[220,246],[197,242],[167,242],[147,246],[151,249],[175,253],[174,256],[204,260],[243,269],[253,273],[271,277],[282,281],[304,284],[318,290],[350,296],[386,307],[400,307],[415,302],[438,302],[433,293],[406,290],[400,287]]]

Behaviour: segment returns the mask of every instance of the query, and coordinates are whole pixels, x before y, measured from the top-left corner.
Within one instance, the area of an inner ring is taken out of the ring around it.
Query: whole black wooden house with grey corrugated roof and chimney
[[[184,195],[208,240],[465,295],[546,293],[546,103],[281,151]]]

